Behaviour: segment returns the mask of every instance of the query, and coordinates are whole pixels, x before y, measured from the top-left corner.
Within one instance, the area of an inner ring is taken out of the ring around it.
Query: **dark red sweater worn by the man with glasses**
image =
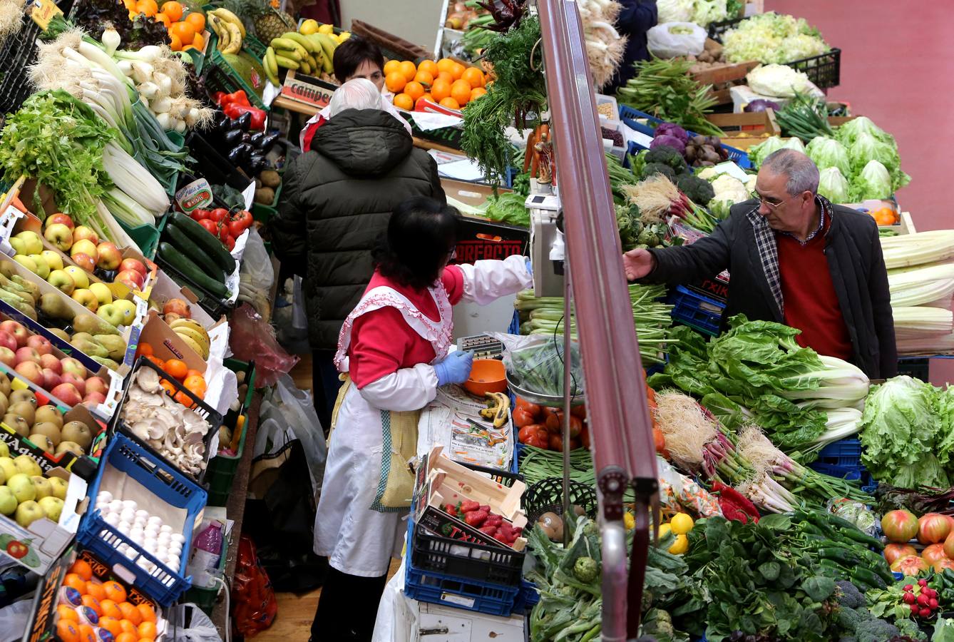
[[[776,234],[785,324],[801,330],[796,337],[798,345],[849,361],[851,338],[824,252],[830,223],[826,220],[824,232],[804,245],[786,234]]]

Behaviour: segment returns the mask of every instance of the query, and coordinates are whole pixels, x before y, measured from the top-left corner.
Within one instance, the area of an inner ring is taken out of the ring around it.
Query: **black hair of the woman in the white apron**
[[[373,257],[375,268],[406,287],[423,290],[441,278],[454,245],[460,213],[428,197],[398,205]]]

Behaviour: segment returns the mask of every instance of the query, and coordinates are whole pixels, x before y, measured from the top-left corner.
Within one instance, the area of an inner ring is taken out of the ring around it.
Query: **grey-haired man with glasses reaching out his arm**
[[[628,280],[669,285],[728,269],[723,326],[736,314],[801,330],[798,343],[858,365],[872,379],[897,374],[887,273],[872,217],[820,197],[819,169],[795,150],[769,155],[752,200],[737,203],[706,238],[623,255]]]

